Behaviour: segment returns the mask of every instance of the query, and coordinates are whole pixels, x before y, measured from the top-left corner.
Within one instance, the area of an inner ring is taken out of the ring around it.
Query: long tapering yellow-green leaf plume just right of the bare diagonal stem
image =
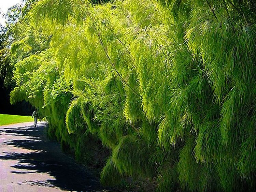
[[[157,121],[168,99],[173,41],[165,26],[129,28],[129,34],[143,111],[150,121]]]

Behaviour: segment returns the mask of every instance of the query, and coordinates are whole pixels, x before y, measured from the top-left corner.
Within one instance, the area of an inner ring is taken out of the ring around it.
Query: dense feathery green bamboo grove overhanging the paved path
[[[39,0],[16,28],[11,102],[78,161],[104,146],[102,184],[255,188],[254,0]]]

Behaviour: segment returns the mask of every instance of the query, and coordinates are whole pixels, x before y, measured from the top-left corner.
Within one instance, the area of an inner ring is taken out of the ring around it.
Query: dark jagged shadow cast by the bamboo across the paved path
[[[43,137],[44,124],[33,126],[4,128],[0,134],[14,136],[4,142],[5,145],[32,150],[24,152],[3,152],[0,160],[16,160],[13,174],[47,173],[55,178],[46,181],[30,180],[18,184],[57,187],[68,191],[110,191],[103,189],[99,180],[85,167],[76,164],[74,159],[61,151],[60,145]],[[21,138],[17,138],[20,136]],[[24,150],[23,150],[24,151]],[[112,190],[111,190],[112,191]]]

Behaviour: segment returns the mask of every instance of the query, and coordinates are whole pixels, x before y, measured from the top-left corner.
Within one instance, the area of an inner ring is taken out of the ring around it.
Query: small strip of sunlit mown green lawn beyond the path
[[[0,114],[0,125],[34,121],[31,116],[3,115]]]

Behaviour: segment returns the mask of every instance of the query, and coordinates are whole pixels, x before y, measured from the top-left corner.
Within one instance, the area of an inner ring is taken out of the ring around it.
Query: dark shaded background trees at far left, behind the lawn
[[[21,6],[15,5],[5,14],[7,26],[0,25],[0,113],[11,115],[30,115],[32,106],[26,102],[18,102],[15,105],[10,104],[10,92],[15,86],[12,81],[13,65],[11,64],[10,45],[13,43],[12,26],[21,16]]]

